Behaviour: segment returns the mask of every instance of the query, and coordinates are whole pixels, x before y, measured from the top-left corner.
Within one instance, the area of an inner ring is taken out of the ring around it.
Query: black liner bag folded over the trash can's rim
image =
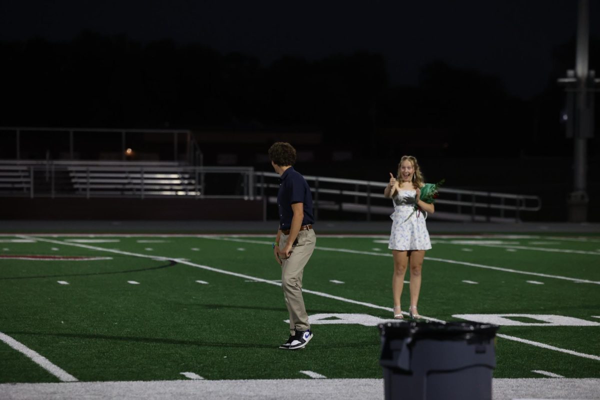
[[[498,325],[473,321],[398,321],[379,324],[381,335],[391,339],[491,339],[496,336],[498,328]]]

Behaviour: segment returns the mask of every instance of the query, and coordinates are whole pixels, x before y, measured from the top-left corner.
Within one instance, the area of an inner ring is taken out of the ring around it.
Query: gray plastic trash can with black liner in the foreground
[[[497,325],[379,324],[385,399],[491,400]]]

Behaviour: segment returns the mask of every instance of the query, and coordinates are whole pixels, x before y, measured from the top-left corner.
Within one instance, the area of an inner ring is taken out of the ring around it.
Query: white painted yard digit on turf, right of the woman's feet
[[[504,326],[600,326],[594,321],[581,320],[574,317],[563,317],[562,315],[545,314],[456,314],[454,318],[462,318],[473,322],[496,324]],[[538,322],[518,321],[511,319],[526,318],[527,320],[538,320]]]

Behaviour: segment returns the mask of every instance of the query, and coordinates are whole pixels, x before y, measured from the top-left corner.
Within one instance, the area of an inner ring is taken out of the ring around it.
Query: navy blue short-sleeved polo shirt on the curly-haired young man
[[[292,227],[293,203],[302,203],[304,218],[302,225],[314,224],[313,196],[304,176],[300,175],[293,167],[289,167],[281,175],[279,193],[277,193],[277,206],[279,208],[279,228],[287,230]]]

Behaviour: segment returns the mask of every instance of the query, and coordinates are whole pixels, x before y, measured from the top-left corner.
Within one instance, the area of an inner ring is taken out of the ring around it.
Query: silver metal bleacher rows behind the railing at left
[[[0,161],[0,196],[252,199],[251,167],[175,161]]]

